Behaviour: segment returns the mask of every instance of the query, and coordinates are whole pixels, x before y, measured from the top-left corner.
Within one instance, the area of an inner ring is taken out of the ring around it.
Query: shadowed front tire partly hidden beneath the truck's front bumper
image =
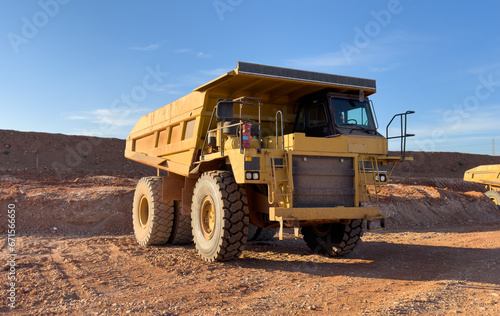
[[[304,241],[317,254],[337,257],[350,253],[363,235],[363,220],[302,228]]]

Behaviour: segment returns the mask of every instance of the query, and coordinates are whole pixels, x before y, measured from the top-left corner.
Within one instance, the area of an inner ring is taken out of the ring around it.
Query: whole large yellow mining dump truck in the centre
[[[203,259],[222,261],[241,254],[249,226],[279,228],[280,239],[293,227],[317,253],[351,252],[363,220],[383,226],[379,209],[361,203],[387,182],[388,164],[411,160],[413,112],[393,117],[401,135],[382,136],[375,91],[374,80],[240,62],[143,116],[125,157],[158,174],[137,185],[138,243],[194,240]],[[401,156],[388,156],[389,138],[401,139]]]

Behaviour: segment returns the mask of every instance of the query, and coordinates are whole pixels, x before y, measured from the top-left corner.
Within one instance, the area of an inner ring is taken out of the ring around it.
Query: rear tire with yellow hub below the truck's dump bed
[[[137,183],[132,221],[139,245],[168,242],[174,223],[174,203],[162,200],[161,177],[146,177]]]

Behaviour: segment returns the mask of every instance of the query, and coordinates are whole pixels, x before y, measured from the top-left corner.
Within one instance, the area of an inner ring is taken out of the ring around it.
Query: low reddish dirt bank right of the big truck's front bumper
[[[475,186],[459,179],[389,183],[380,192],[378,203],[366,204],[380,207],[389,229],[500,222],[500,210]]]

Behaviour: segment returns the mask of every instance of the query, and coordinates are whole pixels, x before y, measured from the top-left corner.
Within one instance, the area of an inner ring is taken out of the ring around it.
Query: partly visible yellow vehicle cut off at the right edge
[[[467,170],[464,180],[484,184],[485,193],[500,208],[500,165],[484,165]]]

